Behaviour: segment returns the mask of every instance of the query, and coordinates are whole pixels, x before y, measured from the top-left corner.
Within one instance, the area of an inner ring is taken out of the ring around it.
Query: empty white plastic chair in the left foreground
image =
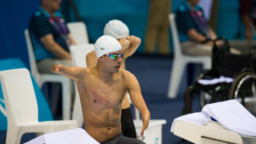
[[[28,69],[0,72],[7,115],[6,144],[19,144],[27,132],[50,133],[77,128],[75,120],[38,122],[36,94]]]

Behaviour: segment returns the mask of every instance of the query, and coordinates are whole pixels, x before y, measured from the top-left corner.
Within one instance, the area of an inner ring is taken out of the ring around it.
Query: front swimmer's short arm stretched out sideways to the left
[[[83,79],[83,67],[74,66],[74,67],[67,67],[61,64],[56,64],[51,68],[52,72],[56,74],[61,74],[69,79],[73,80],[81,80]]]

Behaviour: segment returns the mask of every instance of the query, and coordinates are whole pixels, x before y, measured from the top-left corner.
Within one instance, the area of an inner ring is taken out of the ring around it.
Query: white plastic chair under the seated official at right
[[[184,21],[185,22],[185,21]],[[178,30],[176,27],[175,14],[169,14],[169,23],[172,32],[172,41],[173,41],[173,63],[172,63],[172,72],[169,82],[168,94],[167,97],[174,99],[177,97],[180,82],[183,77],[183,73],[188,63],[201,63],[203,69],[212,68],[212,58],[211,56],[191,56],[184,55],[181,51],[180,38]]]

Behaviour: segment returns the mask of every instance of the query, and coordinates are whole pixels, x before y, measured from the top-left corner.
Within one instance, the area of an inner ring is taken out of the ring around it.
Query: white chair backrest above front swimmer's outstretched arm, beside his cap
[[[81,44],[70,47],[72,63],[74,66],[86,68],[86,55],[94,50],[94,44]]]

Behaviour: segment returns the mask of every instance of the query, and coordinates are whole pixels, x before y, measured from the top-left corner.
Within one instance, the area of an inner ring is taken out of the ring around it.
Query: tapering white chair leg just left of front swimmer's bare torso
[[[76,86],[75,86],[75,92],[76,94],[75,94],[75,101],[74,101],[74,107],[73,107],[73,113],[72,113],[72,120],[76,120],[78,127],[82,128],[84,124],[84,117],[83,117],[79,93],[77,91]]]

